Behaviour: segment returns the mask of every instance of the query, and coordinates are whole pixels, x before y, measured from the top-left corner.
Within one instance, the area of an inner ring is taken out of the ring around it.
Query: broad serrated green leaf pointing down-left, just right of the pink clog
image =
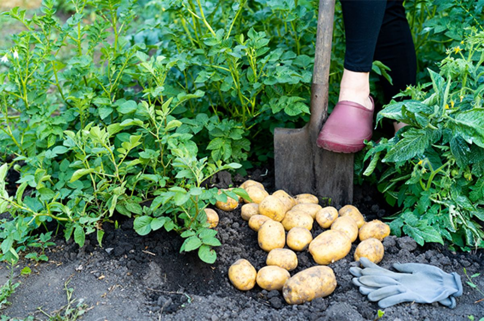
[[[403,133],[404,138],[390,149],[383,162],[399,162],[409,160],[416,155],[421,155],[429,146],[429,130],[416,130],[410,128]]]

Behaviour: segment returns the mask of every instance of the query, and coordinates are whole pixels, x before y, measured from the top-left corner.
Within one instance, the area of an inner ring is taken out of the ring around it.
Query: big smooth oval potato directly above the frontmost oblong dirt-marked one
[[[318,264],[329,264],[348,255],[351,241],[346,233],[335,230],[324,231],[309,244],[309,252]]]

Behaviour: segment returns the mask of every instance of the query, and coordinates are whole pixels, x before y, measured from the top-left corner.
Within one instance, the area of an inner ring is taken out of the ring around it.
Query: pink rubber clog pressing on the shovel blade
[[[375,102],[370,96],[372,109],[357,102],[341,101],[319,133],[317,145],[335,153],[355,153],[364,147],[364,140],[373,134]]]

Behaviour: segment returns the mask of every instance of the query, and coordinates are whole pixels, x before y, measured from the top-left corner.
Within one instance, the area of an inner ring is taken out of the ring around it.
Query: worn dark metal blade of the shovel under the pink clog
[[[320,204],[353,201],[353,154],[333,153],[316,145],[308,126],[274,130],[275,187],[291,195],[311,193]]]

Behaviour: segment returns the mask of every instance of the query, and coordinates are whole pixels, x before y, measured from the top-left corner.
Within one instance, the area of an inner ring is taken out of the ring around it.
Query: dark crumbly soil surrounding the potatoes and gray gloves
[[[273,191],[273,173],[256,170],[249,178],[262,181]],[[219,175],[216,183],[227,187],[241,183],[242,177]],[[378,199],[378,193],[367,186],[355,187],[354,204],[366,219],[392,214],[392,209]],[[10,317],[45,316],[37,310],[50,312],[66,304],[64,283],[70,279],[74,297],[91,307],[83,320],[375,320],[378,306],[369,302],[351,283],[349,267],[354,248],[348,256],[330,265],[338,286],[330,296],[311,303],[289,306],[282,294],[255,287],[241,292],[227,278],[228,267],[240,258],[249,260],[256,269],[265,265],[267,253],[257,245],[257,233],[241,219],[240,209],[218,211],[220,223],[216,230],[222,246],[218,259],[202,263],[196,253],[179,253],[181,238],[175,233],[156,232],[139,236],[133,230],[133,219],[118,217],[119,228],[105,224],[103,248],[90,235],[84,248],[71,241],[56,239],[57,246],[47,251],[48,263],[33,265],[23,260],[15,269],[30,265],[32,274],[16,277],[22,284],[10,297],[13,303],[2,311]],[[321,232],[315,224],[313,234]],[[463,269],[469,275],[484,272],[483,251],[454,253],[439,245],[419,247],[408,237],[389,236],[384,240],[385,257],[379,264],[390,268],[394,262],[428,263],[446,272],[457,272],[464,284],[464,294],[457,298],[457,307],[449,309],[438,304],[405,303],[384,309],[381,320],[475,320],[484,317],[482,295],[466,284]],[[311,255],[298,253],[299,266],[291,275],[316,265]],[[8,269],[0,269],[0,281],[5,281]],[[484,290],[484,275],[474,280]]]

